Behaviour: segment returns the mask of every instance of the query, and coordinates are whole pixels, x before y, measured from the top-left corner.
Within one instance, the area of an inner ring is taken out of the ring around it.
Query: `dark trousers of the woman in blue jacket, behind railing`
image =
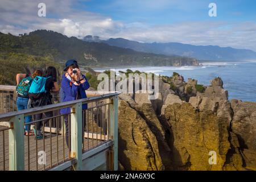
[[[69,123],[71,122],[70,115],[64,115],[64,122],[66,126],[66,132],[65,132],[65,138],[66,138],[66,143],[69,148],[69,145],[71,144],[71,126],[69,126]],[[86,125],[86,119],[85,119],[85,114],[82,114],[82,143],[84,143],[84,128]],[[70,149],[70,148],[69,148]]]

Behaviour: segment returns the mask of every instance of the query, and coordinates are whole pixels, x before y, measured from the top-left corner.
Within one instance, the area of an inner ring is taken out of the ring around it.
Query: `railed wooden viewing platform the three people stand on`
[[[119,93],[86,94],[88,98],[16,111],[15,86],[0,85],[0,171],[117,170]],[[58,100],[54,94],[53,100]],[[88,109],[82,110],[82,104]],[[69,148],[59,112],[65,107],[71,107]],[[47,111],[53,117],[28,123],[32,129],[42,121],[44,138],[24,135],[24,117]]]

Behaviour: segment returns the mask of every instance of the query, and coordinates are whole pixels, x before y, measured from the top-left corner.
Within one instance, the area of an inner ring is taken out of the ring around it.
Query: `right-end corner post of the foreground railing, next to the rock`
[[[109,135],[114,140],[113,169],[118,169],[118,96],[110,98],[109,104]]]

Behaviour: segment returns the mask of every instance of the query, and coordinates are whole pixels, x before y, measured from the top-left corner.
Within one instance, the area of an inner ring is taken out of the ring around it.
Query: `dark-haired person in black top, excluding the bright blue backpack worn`
[[[59,85],[57,84],[57,71],[55,67],[48,67],[46,70],[46,76],[48,77],[46,80],[45,88],[47,92],[43,94],[42,97],[38,99],[33,99],[30,98],[30,107],[39,107],[39,106],[45,106],[45,105],[50,105],[52,104],[52,96],[51,96],[51,91],[52,92],[58,92],[59,91]],[[43,134],[41,132],[41,127],[43,123],[45,124],[48,122],[49,117],[53,116],[53,112],[49,111],[47,113],[44,113],[46,115],[46,120],[44,121],[39,121],[36,122],[36,130],[34,130],[34,133],[36,134],[36,139],[43,139]],[[40,114],[35,114],[34,115],[34,121],[38,121],[42,119],[43,113]]]

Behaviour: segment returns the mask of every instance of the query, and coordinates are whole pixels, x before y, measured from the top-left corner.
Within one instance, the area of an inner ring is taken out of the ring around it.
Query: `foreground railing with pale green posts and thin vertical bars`
[[[68,161],[81,170],[82,155],[109,141],[113,143],[113,169],[117,169],[118,94],[108,93],[0,114],[0,123],[9,125],[0,126],[0,170],[47,170]],[[88,104],[88,109],[82,110],[83,104]],[[59,114],[65,107],[71,107],[71,113]],[[35,119],[36,114],[44,116]],[[34,119],[24,124],[24,117],[28,115]],[[55,127],[52,127],[53,122]],[[42,139],[24,136],[24,126],[36,127],[39,123],[42,123]],[[46,123],[49,123],[48,127]],[[66,127],[69,130],[66,131]]]

